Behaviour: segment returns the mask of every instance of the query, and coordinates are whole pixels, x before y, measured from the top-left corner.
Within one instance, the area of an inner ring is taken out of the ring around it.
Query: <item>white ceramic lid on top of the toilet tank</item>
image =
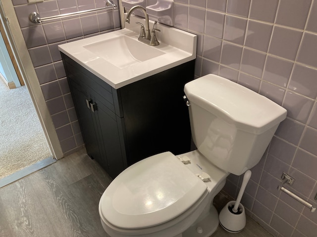
[[[280,123],[287,114],[283,107],[263,95],[213,74],[188,82],[184,91],[190,102],[254,134]]]

